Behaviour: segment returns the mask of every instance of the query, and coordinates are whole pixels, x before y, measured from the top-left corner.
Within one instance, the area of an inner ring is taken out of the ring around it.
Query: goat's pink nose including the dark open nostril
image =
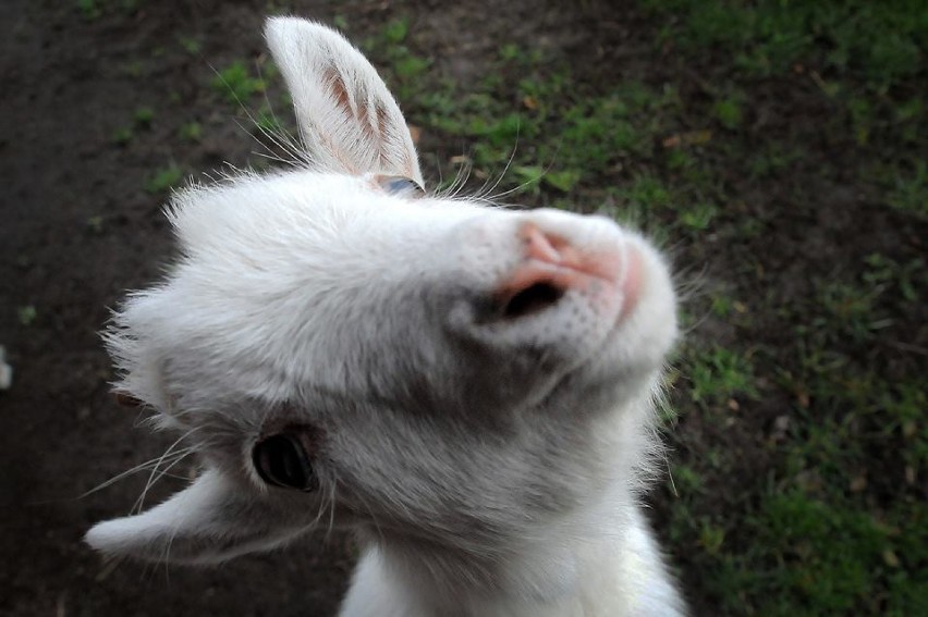
[[[623,250],[622,246],[577,246],[534,222],[524,223],[517,233],[523,256],[497,289],[504,317],[520,318],[545,310],[569,291],[594,298],[620,292],[624,295],[624,309],[635,300],[640,263],[631,247]]]

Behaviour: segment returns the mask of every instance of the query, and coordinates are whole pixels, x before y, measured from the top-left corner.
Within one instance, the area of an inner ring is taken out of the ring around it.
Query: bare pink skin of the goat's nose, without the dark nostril
[[[497,296],[503,305],[538,284],[563,292],[589,292],[595,296],[608,294],[609,291],[621,292],[619,318],[637,303],[642,258],[632,246],[626,244],[624,250],[621,247],[613,250],[584,250],[561,236],[542,232],[535,223],[524,224],[518,235],[527,259],[500,285]],[[606,289],[602,289],[602,283],[606,283]]]

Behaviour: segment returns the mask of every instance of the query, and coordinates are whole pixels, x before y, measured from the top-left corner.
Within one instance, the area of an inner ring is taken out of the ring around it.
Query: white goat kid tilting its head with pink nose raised
[[[208,564],[334,525],[363,546],[344,616],[682,614],[639,511],[676,336],[659,255],[424,194],[367,60],[303,20],[266,34],[314,164],[174,197],[182,257],[107,345],[204,471],[89,544]]]

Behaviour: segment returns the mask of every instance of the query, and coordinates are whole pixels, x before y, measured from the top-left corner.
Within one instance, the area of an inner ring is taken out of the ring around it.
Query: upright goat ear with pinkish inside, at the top
[[[352,175],[384,173],[423,185],[400,107],[357,49],[334,30],[296,17],[271,17],[265,35],[316,162]]]

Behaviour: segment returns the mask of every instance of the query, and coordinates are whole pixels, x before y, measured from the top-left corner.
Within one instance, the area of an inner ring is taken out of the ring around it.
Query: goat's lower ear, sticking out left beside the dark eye
[[[85,540],[112,556],[212,564],[273,548],[306,529],[305,521],[276,514],[254,491],[209,470],[144,514],[96,525]]]

